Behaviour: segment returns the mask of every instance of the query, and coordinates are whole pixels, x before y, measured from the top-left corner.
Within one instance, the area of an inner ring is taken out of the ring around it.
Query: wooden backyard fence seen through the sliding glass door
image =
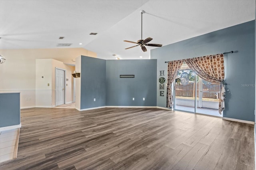
[[[198,84],[197,84],[197,97],[198,97]],[[203,84],[203,97],[204,98],[211,98],[217,99],[217,95],[220,91],[220,84],[211,84],[211,85],[204,85]],[[195,96],[195,85],[194,83],[189,83],[188,85],[182,85],[175,83],[175,95],[182,96],[182,97],[194,97]]]

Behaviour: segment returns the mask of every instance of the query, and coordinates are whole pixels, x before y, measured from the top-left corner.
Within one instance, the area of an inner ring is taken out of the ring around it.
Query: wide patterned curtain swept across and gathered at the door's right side
[[[202,79],[214,83],[223,83],[224,73],[224,55],[206,55],[204,57],[196,57],[185,59],[187,65]],[[220,94],[222,94],[222,88]],[[219,97],[219,113],[224,110],[224,98]]]

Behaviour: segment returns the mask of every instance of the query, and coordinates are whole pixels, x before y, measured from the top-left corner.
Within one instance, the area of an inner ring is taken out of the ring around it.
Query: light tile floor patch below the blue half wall
[[[0,131],[0,162],[16,157],[15,147],[19,129]]]

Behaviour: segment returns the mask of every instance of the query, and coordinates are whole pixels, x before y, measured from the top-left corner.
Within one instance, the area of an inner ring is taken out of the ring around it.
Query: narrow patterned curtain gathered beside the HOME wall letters
[[[172,96],[172,82],[176,79],[180,67],[182,66],[183,60],[169,61],[168,63],[168,75],[167,75],[167,100],[166,107],[170,108],[173,106]]]

